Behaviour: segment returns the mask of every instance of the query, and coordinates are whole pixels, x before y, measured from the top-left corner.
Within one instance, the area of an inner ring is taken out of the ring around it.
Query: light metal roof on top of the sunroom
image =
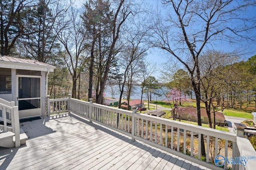
[[[2,68],[16,68],[22,70],[37,70],[37,71],[50,71],[53,72],[55,66],[42,63],[36,60],[20,59],[10,56],[0,56],[0,67]]]

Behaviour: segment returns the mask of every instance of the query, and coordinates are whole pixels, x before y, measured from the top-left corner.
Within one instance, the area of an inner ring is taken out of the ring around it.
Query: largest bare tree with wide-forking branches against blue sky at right
[[[254,1],[234,0],[163,0],[170,14],[165,21],[158,16],[154,20],[154,45],[175,57],[190,74],[191,85],[196,95],[197,122],[202,125],[200,113],[200,67],[199,56],[204,49],[216,43],[239,43],[246,39],[254,41],[248,33],[256,21],[241,15]],[[229,23],[229,24],[227,24]],[[236,23],[231,25],[232,23]],[[201,137],[201,153],[206,155],[204,138]]]

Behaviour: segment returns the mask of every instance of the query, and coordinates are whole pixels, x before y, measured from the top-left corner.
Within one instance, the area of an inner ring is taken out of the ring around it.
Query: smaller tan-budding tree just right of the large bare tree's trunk
[[[208,116],[208,125],[215,129],[215,110],[213,99],[220,96],[220,90],[223,89],[223,82],[220,73],[223,72],[224,66],[233,64],[238,57],[232,53],[223,53],[221,51],[209,50],[202,52],[200,55],[199,66],[201,70],[201,87],[202,87],[202,102],[206,107]],[[222,93],[224,91],[222,90]],[[211,119],[213,113],[213,122]]]

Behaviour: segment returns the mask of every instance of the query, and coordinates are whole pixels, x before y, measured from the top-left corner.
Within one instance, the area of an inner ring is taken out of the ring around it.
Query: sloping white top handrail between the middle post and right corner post
[[[163,117],[156,117],[156,116],[147,115],[147,114],[143,114],[143,113],[137,113],[137,112],[135,113],[135,117],[140,118],[140,119],[145,119],[145,117],[146,117],[147,120],[149,120],[149,121],[155,121],[158,123],[162,123],[164,125],[174,126],[174,127],[180,128],[180,129],[185,129],[185,130],[193,131],[195,133],[200,133],[200,134],[205,134],[207,131],[207,135],[210,135],[212,137],[218,137],[218,138],[225,139],[228,141],[236,142],[236,134],[221,131],[218,129],[205,128],[205,127],[198,126],[198,125],[193,125],[193,124],[184,123],[184,122],[180,122],[180,121],[174,121],[171,119],[165,119]]]

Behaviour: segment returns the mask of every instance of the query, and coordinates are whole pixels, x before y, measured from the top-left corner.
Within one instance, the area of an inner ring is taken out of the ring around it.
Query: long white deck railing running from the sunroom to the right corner
[[[107,126],[118,132],[124,133],[132,140],[140,140],[154,147],[158,147],[167,152],[176,154],[187,160],[211,169],[219,169],[218,166],[210,164],[215,156],[239,157],[245,154],[241,150],[240,137],[230,132],[191,125],[179,121],[173,121],[162,117],[136,113],[114,107],[85,102],[73,98],[50,99],[48,97],[48,114],[60,112],[72,112],[82,117]],[[202,135],[201,135],[202,134]],[[204,139],[206,158],[201,160],[201,137]],[[185,142],[184,142],[185,141]],[[252,145],[248,141],[243,141],[244,145]],[[230,146],[232,147],[230,147]],[[232,154],[229,154],[232,150]],[[246,152],[248,156],[255,156],[255,150]],[[256,160],[248,161],[246,166],[232,165],[234,169],[250,169]],[[224,169],[228,168],[226,161]]]

